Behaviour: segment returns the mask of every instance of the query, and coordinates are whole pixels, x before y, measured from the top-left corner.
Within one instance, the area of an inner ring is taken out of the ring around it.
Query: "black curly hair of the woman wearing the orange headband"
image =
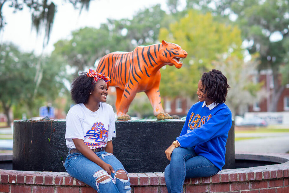
[[[76,103],[87,103],[89,93],[94,90],[93,78],[81,73],[71,83],[71,99]]]

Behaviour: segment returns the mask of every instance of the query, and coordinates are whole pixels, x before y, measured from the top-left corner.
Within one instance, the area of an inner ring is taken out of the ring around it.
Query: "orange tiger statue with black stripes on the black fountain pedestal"
[[[175,43],[137,46],[132,52],[112,52],[103,56],[96,68],[110,77],[107,86],[116,88],[116,115],[118,120],[130,120],[130,103],[138,92],[145,92],[157,120],[172,119],[162,108],[160,98],[160,68],[168,64],[182,67],[188,53]]]

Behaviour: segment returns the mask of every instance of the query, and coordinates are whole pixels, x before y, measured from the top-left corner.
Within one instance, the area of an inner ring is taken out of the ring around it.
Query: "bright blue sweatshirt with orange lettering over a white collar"
[[[232,126],[231,111],[224,103],[211,110],[202,106],[203,102],[197,102],[190,108],[177,140],[181,147],[193,147],[197,155],[204,156],[221,170]]]

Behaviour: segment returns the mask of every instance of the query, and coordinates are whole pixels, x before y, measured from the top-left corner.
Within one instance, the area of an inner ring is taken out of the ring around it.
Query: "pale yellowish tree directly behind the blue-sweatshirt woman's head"
[[[243,114],[242,110],[253,105],[265,97],[265,90],[261,90],[262,83],[253,82],[257,65],[260,61],[254,56],[250,61],[244,62],[236,56],[218,56],[213,61],[214,68],[220,70],[227,78],[230,89],[226,104],[229,106],[232,117]]]

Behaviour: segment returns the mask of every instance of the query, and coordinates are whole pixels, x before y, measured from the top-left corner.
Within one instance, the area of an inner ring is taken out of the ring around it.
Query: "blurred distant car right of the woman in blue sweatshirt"
[[[236,126],[267,126],[268,123],[259,117],[246,117],[235,116]]]

